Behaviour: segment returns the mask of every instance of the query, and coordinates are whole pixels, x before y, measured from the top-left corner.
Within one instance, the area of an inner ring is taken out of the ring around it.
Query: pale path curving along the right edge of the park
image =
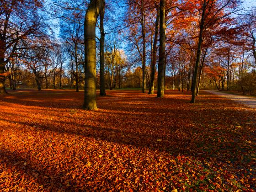
[[[210,91],[210,90],[203,90],[203,91],[231,99],[233,101],[242,103],[251,108],[256,108],[256,97],[233,95],[233,94],[224,93],[221,91]]]

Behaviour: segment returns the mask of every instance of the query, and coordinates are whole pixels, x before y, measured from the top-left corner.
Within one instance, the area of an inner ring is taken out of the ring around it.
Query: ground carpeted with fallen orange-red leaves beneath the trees
[[[0,95],[0,191],[255,191],[256,110],[190,94]]]

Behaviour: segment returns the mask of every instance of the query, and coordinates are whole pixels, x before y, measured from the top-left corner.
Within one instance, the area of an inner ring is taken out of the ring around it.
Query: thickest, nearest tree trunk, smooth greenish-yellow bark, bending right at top
[[[91,0],[85,14],[85,95],[84,109],[96,110],[95,27],[104,0]]]

